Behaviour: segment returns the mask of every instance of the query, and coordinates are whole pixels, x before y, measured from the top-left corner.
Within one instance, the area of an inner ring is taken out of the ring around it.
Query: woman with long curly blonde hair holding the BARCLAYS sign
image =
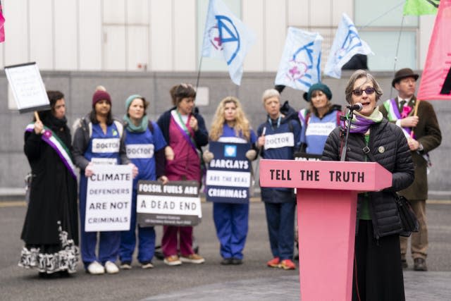
[[[236,97],[226,97],[218,105],[210,130],[210,140],[218,142],[250,143],[251,149],[246,153],[249,160],[254,160],[257,156],[255,142],[257,136],[250,127],[240,101]],[[204,161],[209,162],[214,155],[204,152]],[[216,235],[221,243],[221,264],[242,264],[245,248],[249,203],[233,204],[219,203],[213,204],[213,218],[216,226]]]

